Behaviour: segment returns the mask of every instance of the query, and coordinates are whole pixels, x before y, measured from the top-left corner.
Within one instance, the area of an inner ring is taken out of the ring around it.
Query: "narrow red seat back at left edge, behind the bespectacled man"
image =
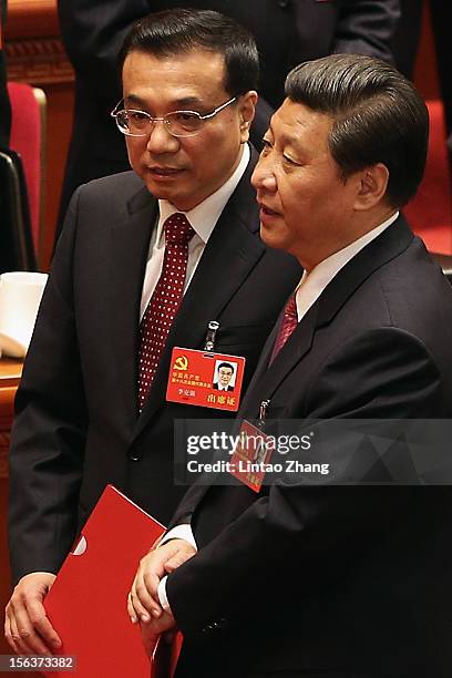
[[[23,163],[29,197],[31,233],[40,259],[44,234],[45,94],[27,83],[9,82],[11,101],[10,147]]]

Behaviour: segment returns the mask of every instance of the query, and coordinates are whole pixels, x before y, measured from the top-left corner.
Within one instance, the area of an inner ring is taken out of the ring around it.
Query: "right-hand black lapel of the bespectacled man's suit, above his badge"
[[[134,436],[142,432],[165,401],[173,347],[203,348],[209,320],[220,317],[225,306],[265,253],[260,239],[254,235],[259,229],[258,208],[249,184],[254,164],[253,161],[249,163],[201,257],[171,328]]]

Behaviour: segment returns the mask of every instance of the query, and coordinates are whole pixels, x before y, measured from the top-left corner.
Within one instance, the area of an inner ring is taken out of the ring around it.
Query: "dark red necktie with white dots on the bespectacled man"
[[[161,277],[140,325],[138,407],[143,409],[184,292],[188,243],[195,232],[184,214],[164,224],[165,255]]]

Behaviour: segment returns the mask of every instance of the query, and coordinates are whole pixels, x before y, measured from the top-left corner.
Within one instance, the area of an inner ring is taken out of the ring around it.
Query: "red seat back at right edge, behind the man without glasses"
[[[413,232],[430,251],[452,254],[452,194],[444,110],[428,101],[430,140],[425,175],[414,198],[403,208]]]

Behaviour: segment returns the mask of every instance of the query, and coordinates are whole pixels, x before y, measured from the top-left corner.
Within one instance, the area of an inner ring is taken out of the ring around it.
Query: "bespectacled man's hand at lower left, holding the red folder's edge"
[[[50,572],[32,572],[16,586],[4,616],[4,637],[14,653],[52,655],[61,647],[42,605],[54,581]]]

